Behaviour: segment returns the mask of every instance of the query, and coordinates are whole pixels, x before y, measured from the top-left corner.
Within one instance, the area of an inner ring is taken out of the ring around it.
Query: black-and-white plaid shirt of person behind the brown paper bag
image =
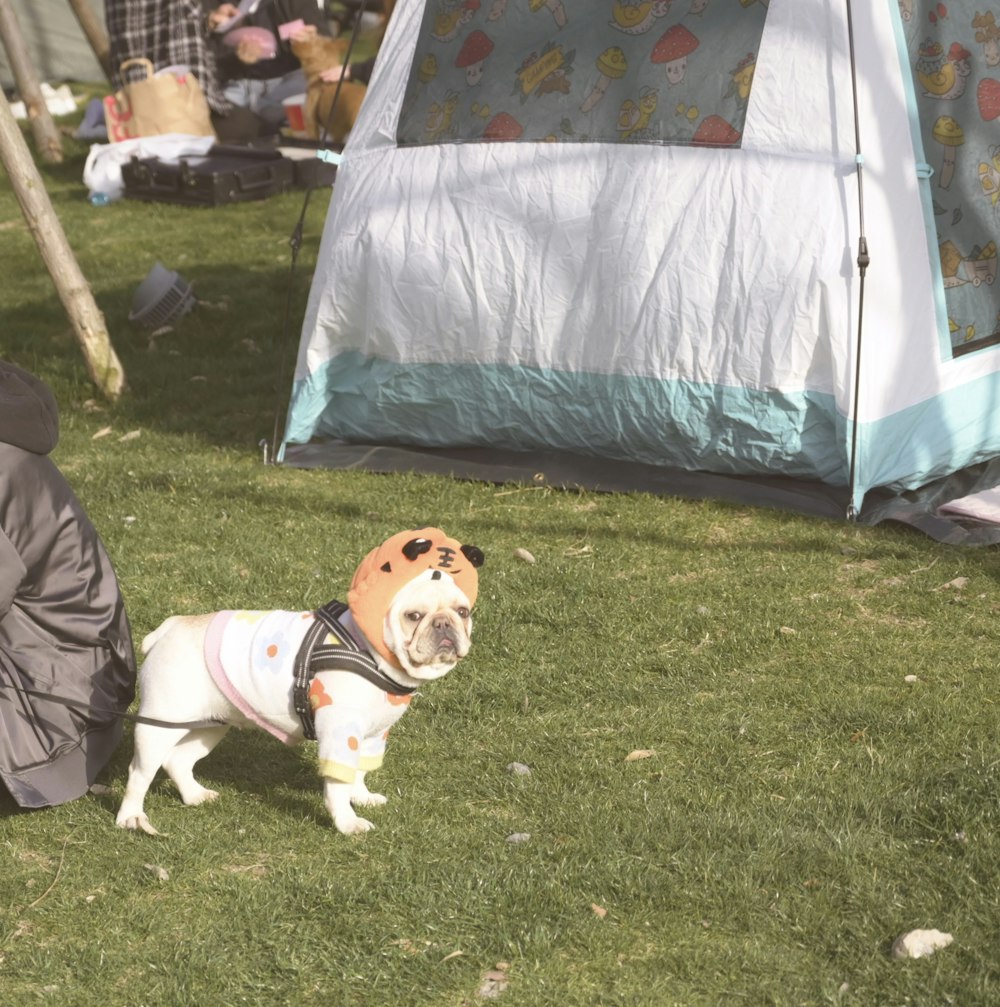
[[[198,79],[213,112],[226,115],[232,106],[223,98],[216,58],[206,39],[205,12],[198,0],[105,0],[116,88],[122,86],[119,66],[145,56],[155,69],[184,65]],[[132,70],[126,75],[132,80]],[[136,70],[136,76],[140,76]]]

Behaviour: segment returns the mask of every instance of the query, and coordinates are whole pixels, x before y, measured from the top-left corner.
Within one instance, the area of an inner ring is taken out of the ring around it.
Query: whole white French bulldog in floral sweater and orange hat
[[[365,558],[348,605],[166,619],[142,641],[148,657],[118,825],[156,834],[143,803],[160,767],[185,805],[215,800],[194,763],[231,727],[259,726],[287,744],[315,737],[333,824],[345,834],[371,829],[352,806],[385,804],[365,777],[382,764],[389,728],[420,685],[468,653],[481,564],[474,546],[425,528]]]

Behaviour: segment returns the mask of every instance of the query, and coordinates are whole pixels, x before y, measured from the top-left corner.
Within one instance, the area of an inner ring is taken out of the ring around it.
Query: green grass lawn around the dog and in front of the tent
[[[472,653],[395,729],[368,836],[331,829],[308,746],[246,732],[199,767],[217,804],[154,784],[162,838],[114,825],[131,732],[111,793],[0,805],[6,1002],[460,1007],[488,1002],[497,963],[511,1007],[997,1002],[995,550],[714,502],[265,466],[325,197],[283,331],[301,193],[95,209],[85,153],[67,144],[44,175],[130,392],[93,401],[6,179],[0,355],[59,399],[54,457],[136,637],[172,612],[342,597],[369,548],[417,524],[487,560]],[[154,259],[228,307],[199,305],[151,348],[127,315]],[[913,927],[955,944],[891,960]]]

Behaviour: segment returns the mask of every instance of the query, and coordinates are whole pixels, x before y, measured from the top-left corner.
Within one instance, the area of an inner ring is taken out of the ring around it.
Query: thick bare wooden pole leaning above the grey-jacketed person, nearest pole
[[[69,248],[65,232],[45,191],[45,184],[2,92],[0,162],[10,176],[21,212],[55,284],[59,300],[73,322],[91,379],[101,393],[114,402],[125,390],[125,371],[111,344],[104,315]]]

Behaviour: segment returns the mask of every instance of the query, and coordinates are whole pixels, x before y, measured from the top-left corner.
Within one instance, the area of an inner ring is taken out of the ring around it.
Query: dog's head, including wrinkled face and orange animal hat
[[[468,653],[480,566],[480,550],[438,528],[401,532],[362,561],[347,604],[386,661],[414,679],[437,679]]]

